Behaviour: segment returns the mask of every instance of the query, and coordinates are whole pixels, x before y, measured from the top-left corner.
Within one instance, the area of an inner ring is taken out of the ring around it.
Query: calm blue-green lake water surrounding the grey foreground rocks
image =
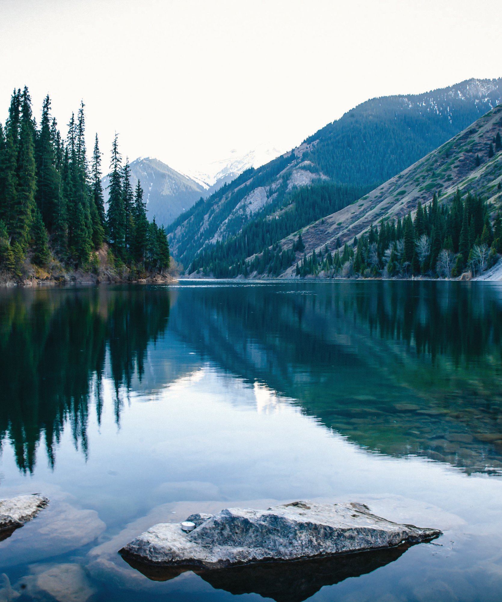
[[[499,601],[502,286],[180,282],[0,290],[0,600]],[[361,501],[431,544],[150,580],[160,522]]]

